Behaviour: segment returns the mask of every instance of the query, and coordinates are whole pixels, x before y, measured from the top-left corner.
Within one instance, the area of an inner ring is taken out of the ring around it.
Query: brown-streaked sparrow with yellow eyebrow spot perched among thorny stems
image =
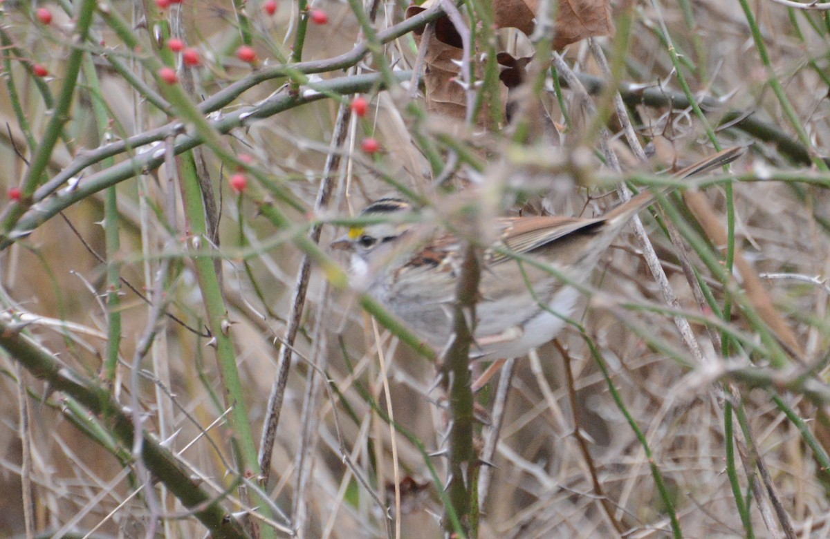
[[[730,163],[744,149],[726,149],[676,176]],[[474,347],[490,359],[519,357],[554,338],[579,297],[571,284],[588,279],[600,255],[653,198],[652,192],[643,192],[594,218],[500,217],[499,239],[482,262]],[[452,332],[447,307],[455,298],[461,240],[413,220],[414,211],[401,199],[382,198],[360,214],[378,217],[378,222],[351,228],[331,246],[351,251],[351,273],[359,288],[441,350]],[[563,279],[523,264],[507,251],[539,260]]]

